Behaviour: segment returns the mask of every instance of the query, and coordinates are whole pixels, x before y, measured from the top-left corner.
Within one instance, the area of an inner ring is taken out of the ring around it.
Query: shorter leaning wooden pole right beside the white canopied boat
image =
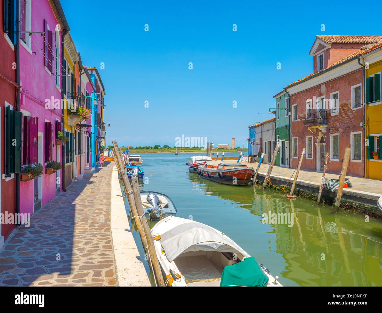
[[[151,260],[153,272],[156,276],[157,282],[160,287],[164,286],[162,270],[160,269],[157,253],[155,252],[154,241],[150,232],[149,224],[147,224],[146,216],[143,211],[141,194],[139,193],[138,177],[131,177],[133,183],[134,200],[137,208],[138,215],[141,217],[144,234],[147,239],[147,251],[149,253],[149,259]]]

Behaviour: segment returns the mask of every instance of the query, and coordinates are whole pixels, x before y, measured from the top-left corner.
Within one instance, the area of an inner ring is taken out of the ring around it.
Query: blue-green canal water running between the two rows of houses
[[[140,182],[141,191],[170,196],[176,216],[225,233],[278,275],[284,286],[382,286],[381,221],[366,222],[353,212],[334,213],[331,206],[286,199],[283,193],[261,186],[211,182],[188,171],[186,162],[193,155],[142,154],[148,181]],[[225,154],[230,155],[238,153]],[[127,198],[125,207],[128,214]],[[134,226],[131,230],[144,260]],[[144,264],[149,273],[147,261]]]

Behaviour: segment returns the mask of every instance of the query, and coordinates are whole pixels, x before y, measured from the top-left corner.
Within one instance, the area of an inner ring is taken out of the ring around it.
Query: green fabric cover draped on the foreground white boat
[[[239,263],[226,266],[220,280],[220,287],[264,287],[267,284],[268,276],[254,257],[245,258]]]

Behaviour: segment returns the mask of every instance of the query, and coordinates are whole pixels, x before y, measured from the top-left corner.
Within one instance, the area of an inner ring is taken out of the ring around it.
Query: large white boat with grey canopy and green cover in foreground
[[[208,225],[169,216],[151,234],[166,286],[282,286],[277,276]]]

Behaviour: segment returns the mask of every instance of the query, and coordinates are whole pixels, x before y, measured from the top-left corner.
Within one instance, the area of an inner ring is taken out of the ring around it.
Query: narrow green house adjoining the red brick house
[[[290,97],[283,90],[274,96],[276,99],[276,124],[275,142],[280,140],[280,150],[278,151],[275,165],[290,167]]]

